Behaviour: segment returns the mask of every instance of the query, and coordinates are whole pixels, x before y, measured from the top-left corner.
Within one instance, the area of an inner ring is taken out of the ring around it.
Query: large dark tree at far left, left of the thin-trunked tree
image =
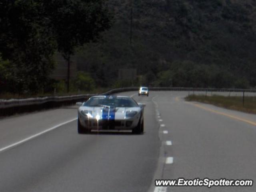
[[[9,60],[11,92],[44,89],[56,43],[42,0],[1,1],[0,26],[0,52]]]

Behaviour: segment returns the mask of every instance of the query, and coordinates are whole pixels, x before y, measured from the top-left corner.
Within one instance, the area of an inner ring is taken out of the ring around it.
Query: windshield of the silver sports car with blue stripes
[[[138,107],[138,104],[131,98],[125,97],[92,97],[84,106],[111,106],[111,107]]]

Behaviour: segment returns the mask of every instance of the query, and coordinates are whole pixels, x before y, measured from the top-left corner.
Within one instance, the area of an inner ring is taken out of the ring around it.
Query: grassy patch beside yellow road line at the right
[[[246,96],[205,96],[205,95],[190,95],[185,98],[187,101],[197,101],[207,104],[213,104],[215,106],[224,107],[227,109],[238,110],[242,112],[256,114],[256,97]]]

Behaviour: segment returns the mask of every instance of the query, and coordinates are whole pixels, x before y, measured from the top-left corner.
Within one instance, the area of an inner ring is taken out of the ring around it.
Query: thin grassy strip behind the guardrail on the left
[[[78,94],[100,94],[107,92],[113,88],[97,88],[91,91],[80,91],[80,92],[56,92],[55,96],[69,96],[69,95],[78,95]],[[0,94],[0,99],[24,99],[24,98],[35,98],[35,97],[47,97],[54,96],[54,93],[38,93],[38,94],[11,94],[11,93],[2,93]]]

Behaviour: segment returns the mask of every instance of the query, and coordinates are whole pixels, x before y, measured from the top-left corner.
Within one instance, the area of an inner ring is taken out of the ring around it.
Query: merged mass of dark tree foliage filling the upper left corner
[[[0,91],[48,90],[54,52],[69,60],[76,47],[109,28],[110,20],[103,0],[1,1],[0,53],[8,62],[1,64]]]

